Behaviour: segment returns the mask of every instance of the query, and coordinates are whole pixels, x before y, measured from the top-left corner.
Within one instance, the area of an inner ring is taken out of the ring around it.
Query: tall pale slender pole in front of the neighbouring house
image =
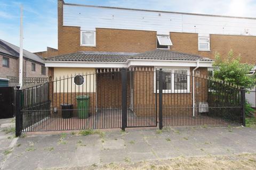
[[[23,6],[20,6],[20,58],[19,58],[19,85],[22,87],[23,79]]]

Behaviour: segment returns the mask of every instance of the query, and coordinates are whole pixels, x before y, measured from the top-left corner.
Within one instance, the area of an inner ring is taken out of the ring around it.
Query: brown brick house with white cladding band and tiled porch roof
[[[56,96],[53,104],[57,107],[61,103],[72,103],[76,107],[76,94],[70,94],[70,88],[77,88],[80,93],[90,94],[91,106],[96,109],[103,105],[119,107],[121,77],[96,73],[125,67],[153,70],[153,73],[163,68],[166,72],[163,90],[168,102],[182,97],[172,105],[185,102],[192,105],[196,83],[189,77],[207,77],[216,52],[225,55],[233,49],[236,55],[243,56],[243,62],[255,64],[255,24],[254,18],[68,4],[59,0],[58,55],[45,60],[49,77],[55,80],[85,73],[95,78],[86,78],[89,81],[81,84],[75,82],[75,78],[71,80],[74,83],[63,81],[66,85],[53,83],[51,90]],[[175,74],[186,78],[179,79]],[[151,105],[156,101],[152,97],[158,86],[155,74],[146,73],[143,80],[140,76],[130,74],[127,80],[130,106]],[[151,97],[148,103],[147,98]],[[202,103],[206,98],[202,95],[197,101]]]

